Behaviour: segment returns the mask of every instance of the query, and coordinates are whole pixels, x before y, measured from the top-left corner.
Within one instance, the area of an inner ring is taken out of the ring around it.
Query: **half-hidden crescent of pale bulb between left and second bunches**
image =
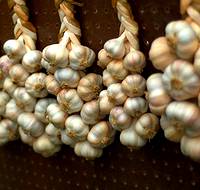
[[[42,121],[43,123],[48,123],[48,116],[47,116],[47,107],[50,104],[56,103],[56,99],[54,98],[43,98],[38,100],[38,102],[35,105],[35,116],[37,119]]]

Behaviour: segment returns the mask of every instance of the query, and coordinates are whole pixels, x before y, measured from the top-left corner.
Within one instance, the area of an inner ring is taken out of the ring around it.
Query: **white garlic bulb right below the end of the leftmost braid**
[[[28,51],[23,59],[22,65],[29,72],[34,73],[41,69],[42,53],[38,50]]]

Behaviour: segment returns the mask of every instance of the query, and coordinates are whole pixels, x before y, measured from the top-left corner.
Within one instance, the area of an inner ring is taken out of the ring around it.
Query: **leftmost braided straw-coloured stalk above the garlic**
[[[37,40],[36,29],[29,22],[29,10],[26,7],[26,0],[8,0],[8,6],[13,11],[14,35],[21,40],[27,50],[34,50]]]

